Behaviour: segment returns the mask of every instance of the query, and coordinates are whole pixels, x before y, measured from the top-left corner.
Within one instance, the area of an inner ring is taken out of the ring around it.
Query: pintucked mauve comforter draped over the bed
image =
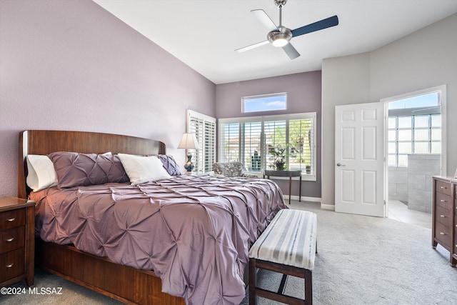
[[[273,181],[213,176],[52,187],[30,199],[44,241],[154,270],[162,291],[188,304],[239,304],[249,247],[287,209]]]

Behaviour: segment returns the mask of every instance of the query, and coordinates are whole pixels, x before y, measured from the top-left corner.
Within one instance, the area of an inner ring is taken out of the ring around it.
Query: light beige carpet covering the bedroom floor
[[[338,214],[316,203],[293,201],[291,207],[318,214],[314,304],[457,304],[457,269],[449,265],[448,251],[431,248],[431,229]],[[277,289],[278,274],[258,276],[261,286]],[[0,304],[121,304],[39,270],[35,284],[62,287],[62,294],[0,296]],[[303,279],[291,277],[286,294],[303,297]],[[258,304],[278,303],[258,298]]]

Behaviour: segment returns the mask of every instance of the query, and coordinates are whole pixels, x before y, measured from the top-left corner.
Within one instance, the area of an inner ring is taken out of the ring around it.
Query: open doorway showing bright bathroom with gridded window
[[[431,214],[431,176],[446,175],[446,85],[382,99],[388,201]]]

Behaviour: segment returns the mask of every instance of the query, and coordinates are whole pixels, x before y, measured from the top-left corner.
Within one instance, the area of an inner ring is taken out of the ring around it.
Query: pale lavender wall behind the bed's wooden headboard
[[[176,146],[186,109],[215,116],[215,94],[211,81],[90,0],[1,0],[0,196],[17,193],[19,131],[159,139],[184,161]]]

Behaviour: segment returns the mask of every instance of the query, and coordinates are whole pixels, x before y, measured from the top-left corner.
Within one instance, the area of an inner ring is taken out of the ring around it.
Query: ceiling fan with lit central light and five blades
[[[338,25],[338,16],[331,16],[321,21],[314,22],[313,24],[308,24],[306,26],[301,26],[298,29],[288,29],[286,26],[282,25],[282,9],[286,5],[287,0],[273,0],[274,4],[278,6],[279,9],[279,26],[276,26],[274,22],[268,17],[268,15],[263,11],[263,9],[254,9],[251,13],[256,16],[258,21],[261,22],[269,30],[267,34],[267,40],[258,42],[257,44],[251,44],[250,46],[245,46],[241,49],[236,49],[237,52],[248,51],[254,49],[258,46],[263,46],[264,44],[271,43],[273,46],[282,47],[290,59],[296,59],[300,54],[298,51],[290,44],[292,37],[300,36],[303,34],[308,34],[313,31],[320,31],[321,29],[327,29],[331,26]]]

